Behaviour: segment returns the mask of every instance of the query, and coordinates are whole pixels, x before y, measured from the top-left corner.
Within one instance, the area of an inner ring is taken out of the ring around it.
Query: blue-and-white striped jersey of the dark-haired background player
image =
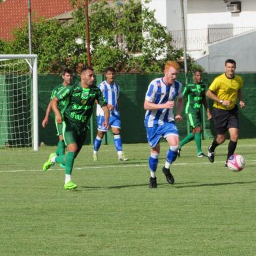
[[[99,84],[98,88],[101,89],[107,104],[114,106],[114,110],[110,111],[110,115],[111,114],[119,115],[118,98],[120,93],[120,86],[116,83],[108,84],[108,82],[106,82],[105,80],[101,82],[101,84]],[[97,104],[96,114],[97,116],[104,116],[103,109],[101,108],[101,106],[99,106],[99,104]]]

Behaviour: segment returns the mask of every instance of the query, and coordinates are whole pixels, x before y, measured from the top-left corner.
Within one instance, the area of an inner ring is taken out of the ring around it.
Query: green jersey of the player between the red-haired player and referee
[[[185,106],[185,113],[198,112],[205,99],[205,86],[204,84],[188,84],[185,86],[182,94],[187,99]]]

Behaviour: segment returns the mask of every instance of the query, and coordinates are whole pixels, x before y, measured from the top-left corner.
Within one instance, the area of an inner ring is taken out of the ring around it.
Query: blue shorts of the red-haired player
[[[164,123],[163,125],[155,125],[153,127],[146,127],[148,143],[151,148],[154,148],[155,145],[159,142],[160,138],[166,138],[168,135],[177,135],[178,129],[174,121],[170,123]]]

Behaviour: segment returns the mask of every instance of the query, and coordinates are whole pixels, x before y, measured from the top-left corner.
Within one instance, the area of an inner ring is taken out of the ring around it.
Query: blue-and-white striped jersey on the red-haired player
[[[150,103],[164,104],[167,101],[174,101],[183,97],[182,84],[177,80],[171,86],[163,82],[163,78],[154,79],[148,86],[145,100]],[[153,127],[155,125],[163,125],[174,121],[174,114],[172,108],[147,110],[145,115],[145,126]]]

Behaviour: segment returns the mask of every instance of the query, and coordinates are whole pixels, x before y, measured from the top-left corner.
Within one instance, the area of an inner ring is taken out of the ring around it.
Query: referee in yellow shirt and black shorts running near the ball
[[[236,61],[227,59],[225,61],[225,73],[217,76],[210,85],[206,96],[214,101],[213,116],[217,136],[209,146],[208,159],[214,163],[214,151],[217,146],[225,141],[225,133],[229,131],[230,140],[227,152],[227,160],[236,150],[238,141],[238,106],[244,108],[245,103],[242,96],[241,88],[244,84],[241,76],[234,74],[236,70]]]

